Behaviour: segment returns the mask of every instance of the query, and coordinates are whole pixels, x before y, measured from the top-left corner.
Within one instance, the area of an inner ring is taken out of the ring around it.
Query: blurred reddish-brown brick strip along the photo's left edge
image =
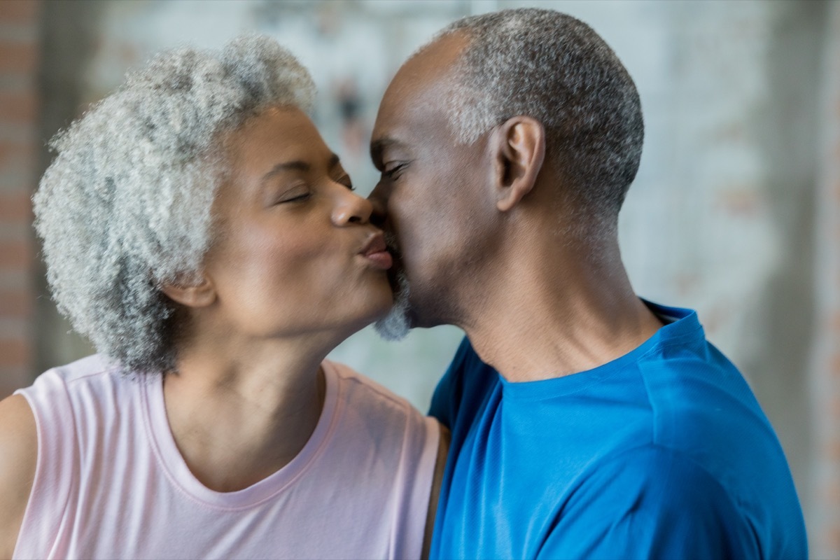
[[[32,374],[38,0],[0,2],[0,398]]]

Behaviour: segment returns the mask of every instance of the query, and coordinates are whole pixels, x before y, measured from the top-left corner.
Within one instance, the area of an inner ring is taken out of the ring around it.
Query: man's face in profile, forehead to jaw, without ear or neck
[[[433,55],[445,66],[457,52]],[[412,285],[412,326],[432,327],[464,314],[459,280],[479,270],[499,240],[482,237],[496,217],[492,194],[481,188],[485,178],[475,172],[483,146],[457,144],[437,105],[447,84],[431,79],[436,67],[426,59],[418,62],[403,67],[383,98],[371,143],[382,175],[370,200],[396,233]]]

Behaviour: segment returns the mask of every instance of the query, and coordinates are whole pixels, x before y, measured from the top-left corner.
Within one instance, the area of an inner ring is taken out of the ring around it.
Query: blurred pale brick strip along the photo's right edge
[[[840,4],[827,23],[821,173],[816,197],[816,347],[812,368],[815,522],[811,557],[840,558]]]

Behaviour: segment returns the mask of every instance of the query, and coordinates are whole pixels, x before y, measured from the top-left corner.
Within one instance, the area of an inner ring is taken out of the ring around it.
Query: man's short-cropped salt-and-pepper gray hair
[[[612,49],[580,20],[547,9],[462,18],[436,40],[459,32],[469,43],[448,108],[459,140],[475,142],[518,115],[537,119],[572,200],[587,221],[614,230],[644,128],[636,86]]]

